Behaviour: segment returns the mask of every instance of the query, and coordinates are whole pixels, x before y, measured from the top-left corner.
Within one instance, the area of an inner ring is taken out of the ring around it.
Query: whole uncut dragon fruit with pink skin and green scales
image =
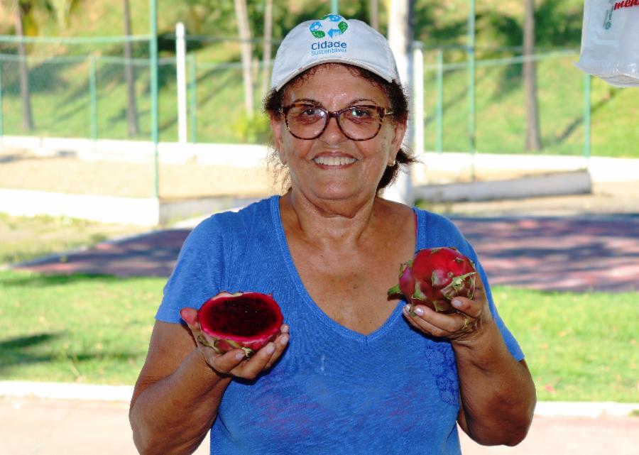
[[[404,295],[410,305],[426,305],[437,312],[456,310],[451,300],[473,298],[477,272],[474,263],[454,247],[425,248],[400,265],[399,283],[388,295]]]

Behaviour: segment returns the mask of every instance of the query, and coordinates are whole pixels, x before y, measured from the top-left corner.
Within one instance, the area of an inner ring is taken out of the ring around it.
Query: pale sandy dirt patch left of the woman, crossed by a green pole
[[[233,168],[198,163],[158,166],[159,194],[184,199],[234,194],[272,194],[266,168]],[[155,166],[148,163],[87,161],[73,156],[40,157],[23,151],[0,153],[0,187],[70,194],[153,197]]]

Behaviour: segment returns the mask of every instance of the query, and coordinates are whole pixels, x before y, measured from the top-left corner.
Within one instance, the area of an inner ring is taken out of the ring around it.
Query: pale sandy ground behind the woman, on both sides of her
[[[280,192],[266,167],[240,168],[200,163],[159,165],[162,199],[190,199],[234,195],[263,197]],[[531,170],[478,169],[476,180],[506,180],[543,173]],[[430,170],[417,166],[416,185],[467,182],[468,172]],[[70,194],[104,194],[121,197],[153,197],[155,168],[148,163],[87,161],[73,155],[41,157],[25,150],[0,150],[0,187]],[[592,194],[537,197],[488,202],[427,204],[448,214],[563,215],[639,213],[639,177],[629,182],[595,182]]]

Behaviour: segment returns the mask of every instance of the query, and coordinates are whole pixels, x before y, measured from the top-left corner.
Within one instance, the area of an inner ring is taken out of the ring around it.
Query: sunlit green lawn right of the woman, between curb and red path
[[[493,292],[540,400],[639,402],[639,292]]]

